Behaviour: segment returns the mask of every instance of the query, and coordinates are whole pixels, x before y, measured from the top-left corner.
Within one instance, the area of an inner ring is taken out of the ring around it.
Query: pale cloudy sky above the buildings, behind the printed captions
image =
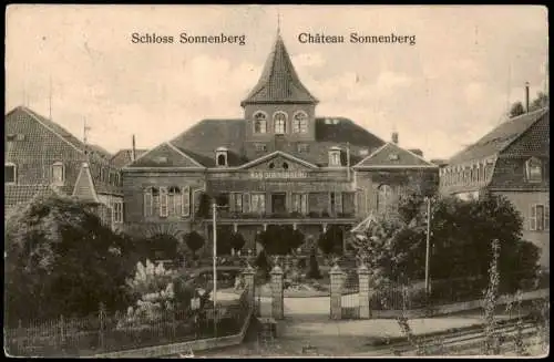
[[[537,6],[33,6],[6,12],[6,113],[48,116],[109,152],[152,148],[203,118],[242,118],[280,33],[317,116],[448,158],[545,90],[547,9]],[[138,44],[132,33],[173,35]],[[246,44],[181,44],[178,35],[245,35]],[[343,35],[342,44],[298,41]],[[348,42],[416,35],[416,44]]]

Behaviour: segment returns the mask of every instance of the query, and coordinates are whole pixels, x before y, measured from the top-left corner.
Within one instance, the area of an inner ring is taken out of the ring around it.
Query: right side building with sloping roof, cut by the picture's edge
[[[454,155],[440,189],[460,198],[503,195],[523,217],[523,238],[542,248],[550,268],[550,108],[509,120]]]

